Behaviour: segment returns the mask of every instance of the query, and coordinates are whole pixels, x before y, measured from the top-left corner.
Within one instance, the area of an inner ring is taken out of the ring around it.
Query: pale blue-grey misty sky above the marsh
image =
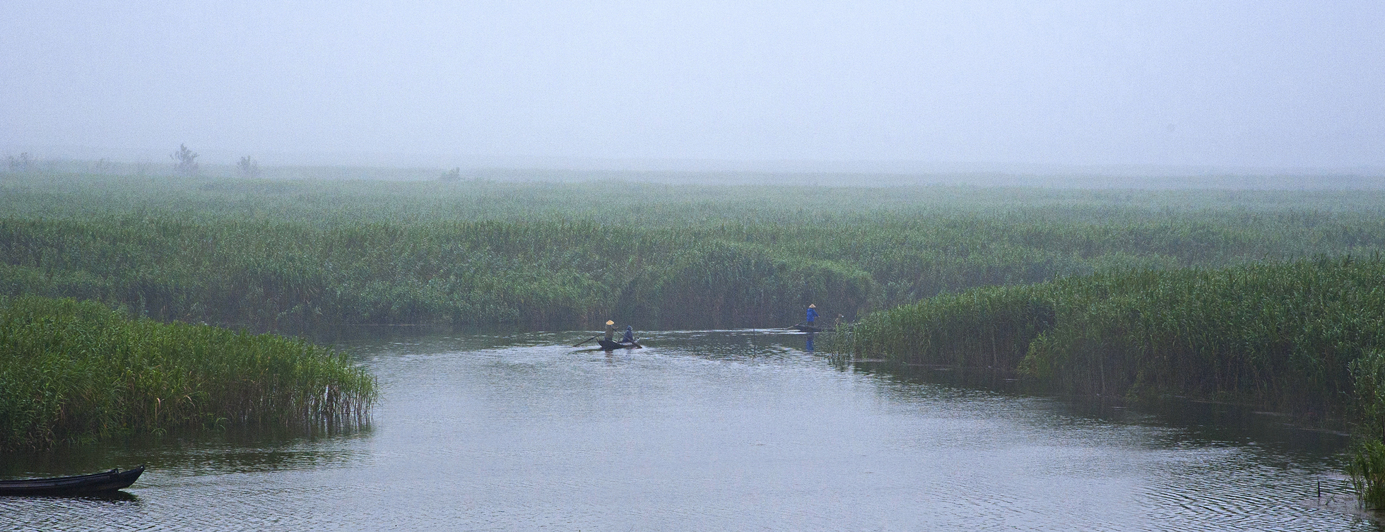
[[[1385,166],[1378,0],[3,11],[8,151]]]

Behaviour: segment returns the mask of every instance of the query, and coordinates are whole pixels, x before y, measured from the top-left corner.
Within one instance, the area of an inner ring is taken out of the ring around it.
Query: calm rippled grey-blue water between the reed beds
[[[0,454],[0,475],[148,463],[109,499],[0,499],[0,531],[1377,531],[1341,436],[834,366],[803,337],[361,342],[366,431]],[[1321,481],[1325,496],[1316,497]]]

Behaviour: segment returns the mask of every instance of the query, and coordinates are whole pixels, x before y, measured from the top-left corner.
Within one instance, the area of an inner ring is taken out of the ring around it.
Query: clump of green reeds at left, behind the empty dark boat
[[[375,381],[269,334],[129,319],[96,302],[0,299],[0,449],[130,431],[364,421]]]

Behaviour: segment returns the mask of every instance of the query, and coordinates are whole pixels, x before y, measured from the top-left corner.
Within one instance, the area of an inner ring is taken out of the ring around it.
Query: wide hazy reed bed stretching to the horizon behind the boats
[[[0,190],[0,295],[273,331],[783,327],[807,303],[853,319],[974,287],[1385,249],[1377,193],[80,175]]]

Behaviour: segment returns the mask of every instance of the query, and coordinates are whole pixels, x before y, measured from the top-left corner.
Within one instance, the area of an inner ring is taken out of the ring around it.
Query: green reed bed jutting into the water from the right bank
[[[873,313],[837,348],[1010,370],[1073,395],[1172,393],[1316,420],[1350,410],[1379,439],[1385,391],[1366,398],[1355,382],[1385,382],[1382,278],[1373,255],[986,287]]]

